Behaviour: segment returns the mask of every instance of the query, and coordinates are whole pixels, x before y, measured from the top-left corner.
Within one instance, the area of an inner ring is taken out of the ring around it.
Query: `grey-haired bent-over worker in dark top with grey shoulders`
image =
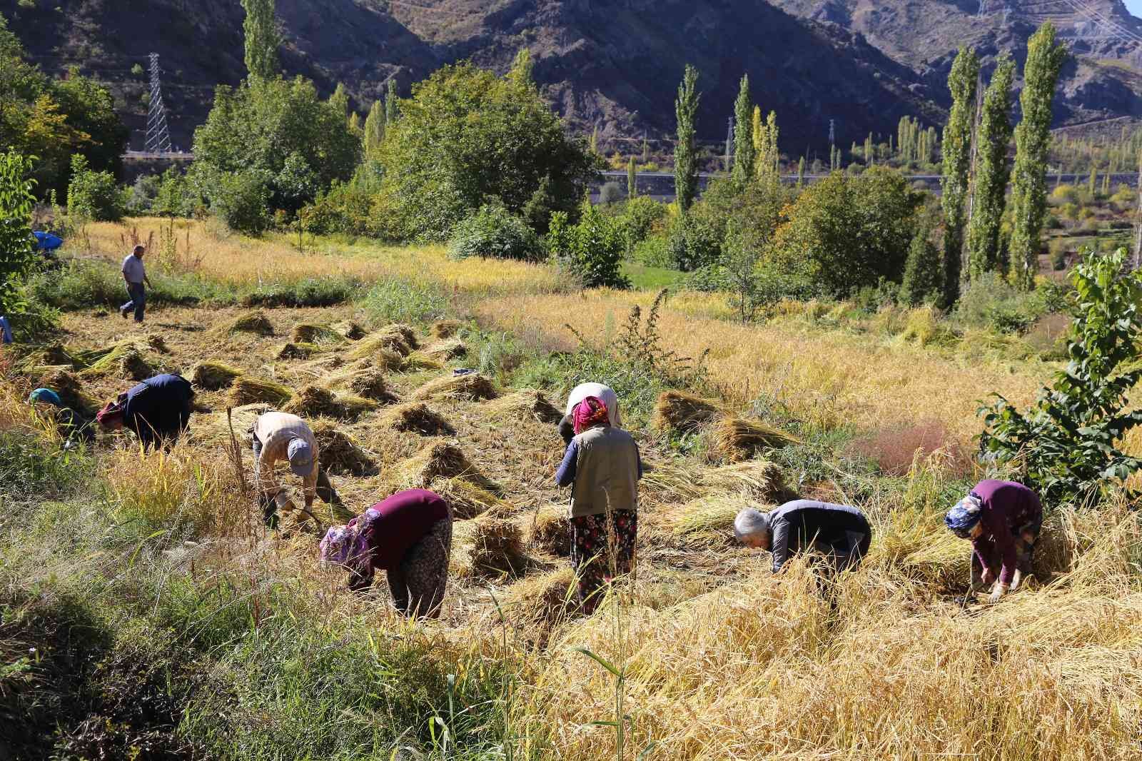
[[[773,553],[777,574],[798,552],[817,551],[836,570],[855,568],[868,553],[872,527],[856,507],[794,499],[770,513],[742,510],[733,521],[738,540]]]

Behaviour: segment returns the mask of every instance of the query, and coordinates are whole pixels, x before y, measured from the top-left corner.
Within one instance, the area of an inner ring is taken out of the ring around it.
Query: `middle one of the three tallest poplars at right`
[[[967,229],[967,270],[965,280],[975,280],[995,270],[999,262],[999,225],[1007,202],[1007,149],[1011,145],[1011,86],[1015,62],[1004,55],[996,64],[980,121],[979,163],[975,168],[975,201]]]

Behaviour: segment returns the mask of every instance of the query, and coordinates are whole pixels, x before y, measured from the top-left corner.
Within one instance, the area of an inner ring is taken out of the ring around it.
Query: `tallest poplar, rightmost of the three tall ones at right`
[[[1039,235],[1047,209],[1047,153],[1051,149],[1051,103],[1067,49],[1055,43],[1055,27],[1047,22],[1027,43],[1023,119],[1015,128],[1015,182],[1012,206],[1015,224],[1011,235],[1012,282],[1024,290],[1035,285]]]

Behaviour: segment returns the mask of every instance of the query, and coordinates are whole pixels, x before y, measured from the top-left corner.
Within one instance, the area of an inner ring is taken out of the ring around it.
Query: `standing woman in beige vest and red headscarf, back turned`
[[[589,614],[616,577],[634,570],[642,459],[634,438],[611,425],[597,396],[576,406],[573,422],[576,435],[555,481],[571,487],[571,562]]]

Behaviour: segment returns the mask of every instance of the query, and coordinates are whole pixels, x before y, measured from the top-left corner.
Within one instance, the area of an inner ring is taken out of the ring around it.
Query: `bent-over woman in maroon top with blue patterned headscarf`
[[[990,602],[1018,588],[1031,572],[1043,504],[1022,483],[980,481],[943,520],[952,534],[972,540],[972,591],[991,585]]]

